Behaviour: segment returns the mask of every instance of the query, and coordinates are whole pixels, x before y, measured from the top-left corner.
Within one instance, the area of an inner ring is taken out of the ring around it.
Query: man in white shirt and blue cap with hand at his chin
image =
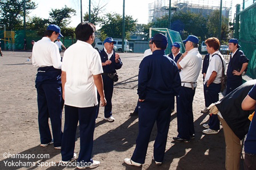
[[[186,52],[181,55],[177,66],[181,69],[181,91],[177,96],[177,121],[178,136],[173,137],[177,142],[190,142],[195,138],[194,118],[193,118],[193,99],[197,78],[202,66],[202,56],[198,51],[198,38],[189,35],[183,43]]]

